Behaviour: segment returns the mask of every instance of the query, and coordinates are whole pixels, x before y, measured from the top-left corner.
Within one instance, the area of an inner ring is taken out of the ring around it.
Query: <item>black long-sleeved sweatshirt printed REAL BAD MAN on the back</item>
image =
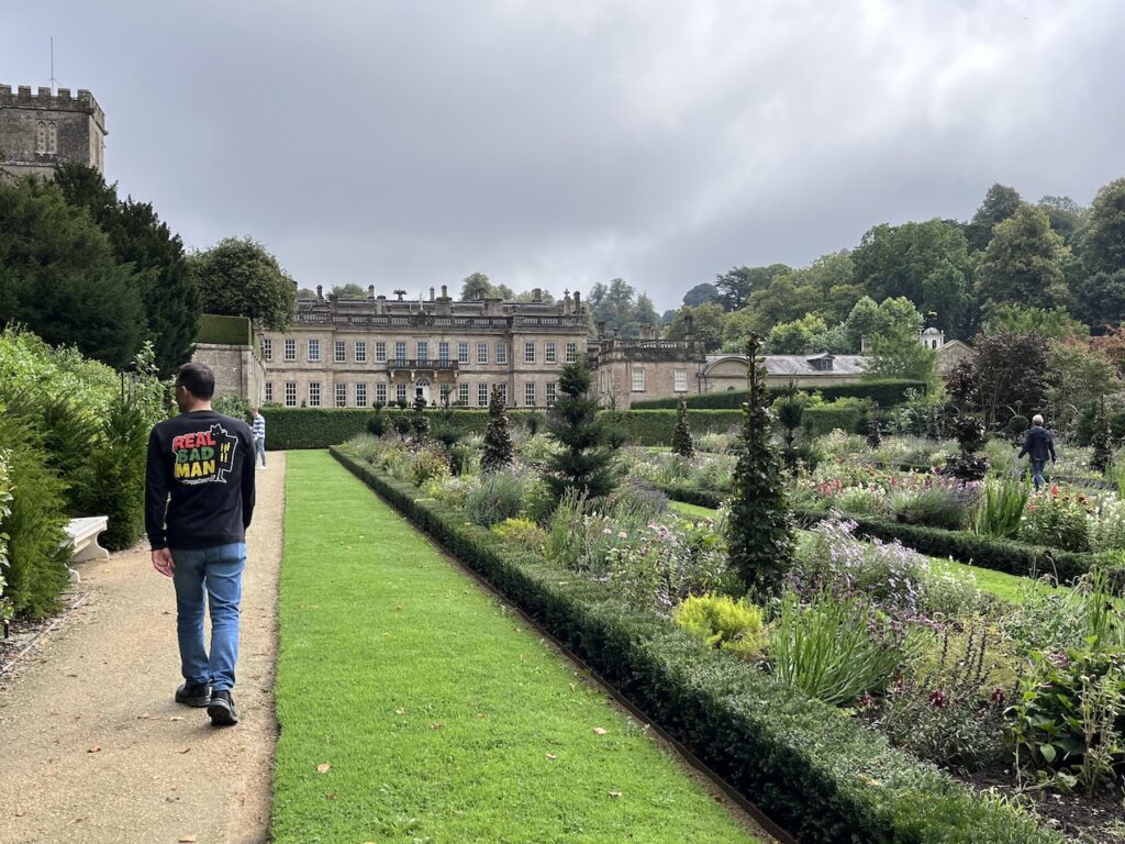
[[[181,413],[153,428],[144,500],[153,549],[245,541],[254,512],[253,455],[250,425],[215,411]]]

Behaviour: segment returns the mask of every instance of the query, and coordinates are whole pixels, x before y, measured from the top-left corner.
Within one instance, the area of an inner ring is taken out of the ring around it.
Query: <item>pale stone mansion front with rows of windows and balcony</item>
[[[580,295],[560,303],[300,299],[286,333],[258,330],[263,398],[286,406],[370,407],[375,402],[487,407],[494,385],[512,407],[546,407],[568,360],[587,352]]]

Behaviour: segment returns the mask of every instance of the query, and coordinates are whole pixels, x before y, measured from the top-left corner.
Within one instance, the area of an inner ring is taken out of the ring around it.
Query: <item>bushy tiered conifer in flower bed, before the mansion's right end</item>
[[[547,414],[547,433],[561,448],[548,460],[543,477],[556,499],[569,490],[592,499],[609,495],[616,486],[611,431],[597,417],[597,401],[588,395],[585,361],[562,367],[558,392]]]

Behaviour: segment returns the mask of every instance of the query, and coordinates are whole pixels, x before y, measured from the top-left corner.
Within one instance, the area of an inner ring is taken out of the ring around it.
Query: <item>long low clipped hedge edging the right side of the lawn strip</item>
[[[1060,844],[1007,805],[603,585],[520,551],[448,504],[332,454],[800,841]]]

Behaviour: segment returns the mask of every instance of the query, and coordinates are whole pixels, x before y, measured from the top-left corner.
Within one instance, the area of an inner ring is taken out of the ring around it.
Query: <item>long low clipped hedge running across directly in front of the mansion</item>
[[[385,408],[384,414],[400,413],[397,407]],[[406,413],[412,411],[407,410]],[[375,413],[363,407],[278,407],[262,408],[266,417],[266,448],[306,449],[327,448],[346,442],[367,430],[367,420]],[[454,408],[449,422],[446,411],[430,410],[431,425],[450,425],[461,433],[483,433],[488,419],[486,410]],[[618,425],[637,446],[667,446],[676,428],[675,411],[603,411],[609,422]],[[515,424],[526,424],[529,417],[544,421],[543,411],[510,410],[508,419]],[[723,432],[741,421],[741,411],[692,411],[687,414],[694,433]]]

